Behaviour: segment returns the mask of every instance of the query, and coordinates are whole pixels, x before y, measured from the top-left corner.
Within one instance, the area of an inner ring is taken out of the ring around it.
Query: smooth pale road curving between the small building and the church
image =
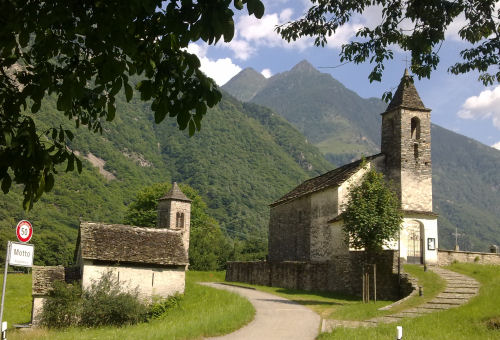
[[[247,298],[255,307],[255,319],[231,334],[210,338],[223,340],[312,340],[319,332],[320,317],[307,307],[255,289],[221,283],[202,283]]]

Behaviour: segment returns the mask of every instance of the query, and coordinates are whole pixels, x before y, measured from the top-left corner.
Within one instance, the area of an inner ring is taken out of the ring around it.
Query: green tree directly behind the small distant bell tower
[[[191,236],[189,242],[190,268],[222,270],[231,252],[229,242],[218,222],[208,214],[208,208],[195,189],[180,185],[191,202]],[[154,184],[139,191],[125,216],[125,223],[141,227],[156,227],[158,199],[171,188],[170,183]]]

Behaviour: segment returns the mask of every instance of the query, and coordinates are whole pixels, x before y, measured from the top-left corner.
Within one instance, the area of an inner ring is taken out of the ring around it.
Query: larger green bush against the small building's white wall
[[[137,289],[124,292],[112,272],[104,273],[83,292],[80,324],[87,327],[127,325],[145,321],[147,306]]]

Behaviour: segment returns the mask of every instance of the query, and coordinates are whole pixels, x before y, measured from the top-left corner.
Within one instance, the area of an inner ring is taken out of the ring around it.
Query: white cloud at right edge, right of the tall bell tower
[[[463,119],[491,118],[493,125],[500,130],[500,85],[467,98],[457,114]]]

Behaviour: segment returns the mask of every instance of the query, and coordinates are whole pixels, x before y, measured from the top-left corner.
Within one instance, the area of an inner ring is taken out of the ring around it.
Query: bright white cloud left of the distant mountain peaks
[[[230,58],[212,60],[206,56],[207,46],[198,44],[189,44],[187,51],[196,54],[200,59],[201,67],[207,76],[215,80],[217,85],[222,86],[232,77],[241,71],[241,67],[234,64]]]

